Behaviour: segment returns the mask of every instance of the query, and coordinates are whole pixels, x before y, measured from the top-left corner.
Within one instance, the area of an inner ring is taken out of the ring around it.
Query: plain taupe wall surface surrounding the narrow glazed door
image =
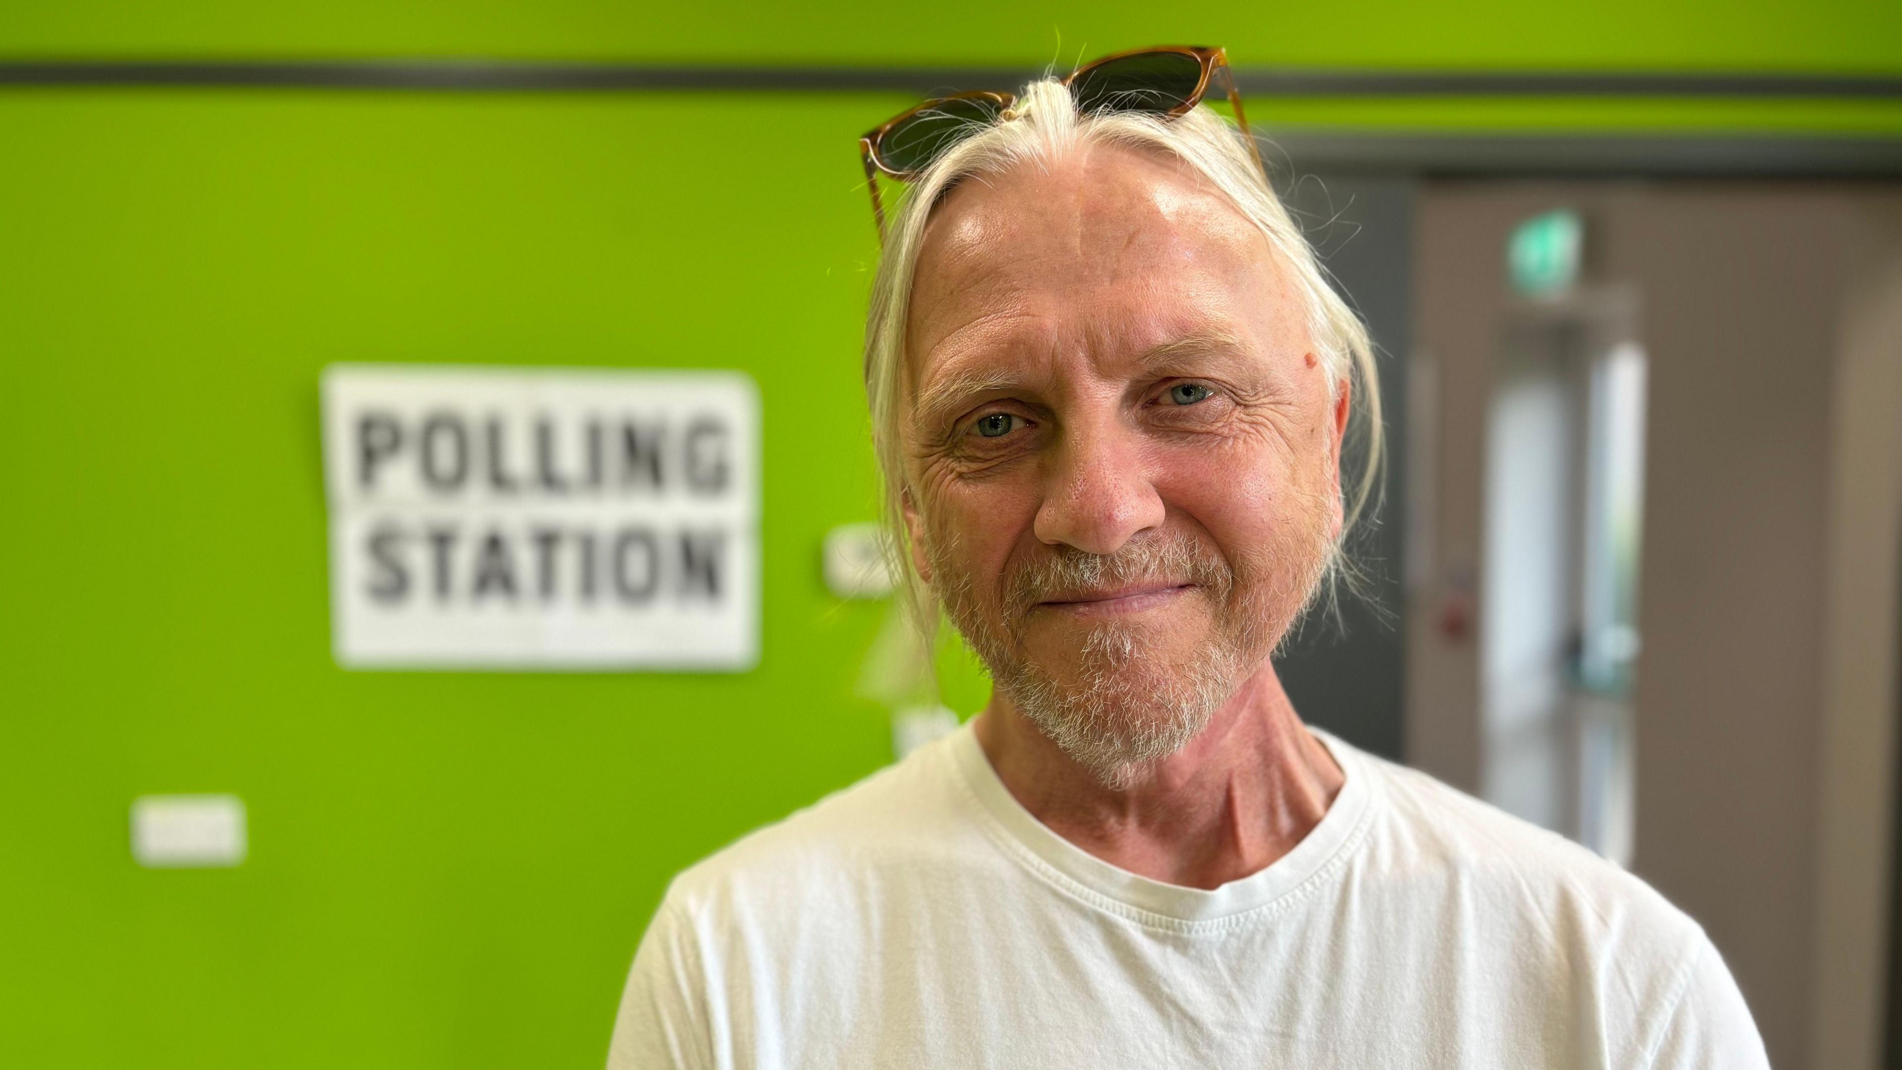
[[[1902,421],[1883,394],[1902,289],[1870,278],[1898,248],[1877,225],[1898,204],[1847,187],[1442,185],[1415,236],[1415,341],[1440,426],[1430,579],[1409,609],[1409,760],[1480,783],[1478,647],[1434,623],[1449,581],[1484,560],[1506,234],[1575,206],[1594,276],[1640,291],[1651,360],[1634,868],[1712,933],[1786,1070],[1873,1066],[1879,1032],[1894,708],[1870,659],[1894,661],[1875,640],[1896,617],[1898,482],[1879,491],[1872,457]]]

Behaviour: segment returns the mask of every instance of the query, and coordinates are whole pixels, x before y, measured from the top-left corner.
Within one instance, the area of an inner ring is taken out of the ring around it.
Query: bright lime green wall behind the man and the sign
[[[6,55],[1902,70],[1894,4],[799,10],[10,6]],[[1069,11],[1069,13],[1065,13]],[[1088,11],[1086,17],[1075,17]],[[1059,50],[1061,40],[1061,50]],[[886,762],[864,95],[0,91],[0,1066],[595,1066],[668,876]],[[1894,135],[1892,105],[1263,101],[1278,124]],[[744,367],[765,404],[757,670],[373,674],[329,655],[329,362]],[[981,701],[957,678],[953,704]],[[228,790],[236,870],[126,807]]]

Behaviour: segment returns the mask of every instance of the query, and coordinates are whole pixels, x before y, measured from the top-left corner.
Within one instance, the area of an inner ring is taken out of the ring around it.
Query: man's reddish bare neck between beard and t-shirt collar
[[[978,743],[1010,794],[1058,836],[1151,880],[1217,887],[1259,872],[1328,813],[1345,781],[1263,661],[1187,746],[1109,788],[1000,695]]]

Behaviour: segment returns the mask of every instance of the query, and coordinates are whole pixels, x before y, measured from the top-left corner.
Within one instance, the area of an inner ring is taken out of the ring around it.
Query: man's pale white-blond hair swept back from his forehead
[[[949,118],[945,122],[951,122]],[[884,230],[884,251],[871,286],[865,316],[865,396],[871,404],[871,438],[884,484],[884,524],[888,529],[892,575],[924,636],[936,634],[938,598],[911,565],[903,503],[907,495],[902,428],[905,409],[905,320],[911,282],[924,244],[924,228],[938,204],[962,181],[1000,175],[1019,166],[1050,168],[1059,158],[1090,145],[1116,145],[1174,156],[1221,190],[1250,223],[1261,228],[1271,249],[1288,268],[1301,303],[1307,307],[1309,339],[1328,373],[1329,400],[1343,383],[1354,386],[1360,421],[1360,449],[1343,449],[1343,468],[1358,459],[1358,476],[1343,508],[1341,535],[1328,556],[1328,577],[1356,581],[1341,552],[1379,487],[1383,459],[1379,371],[1373,343],[1360,316],[1328,284],[1307,236],[1288,215],[1269,185],[1261,158],[1248,137],[1231,128],[1206,105],[1179,118],[1145,112],[1078,114],[1067,86],[1044,78],[1025,86],[1016,105],[997,122],[972,122],[978,129],[957,141],[905,188]],[[1343,472],[1341,482],[1347,482]],[[1331,585],[1324,585],[1329,586]]]

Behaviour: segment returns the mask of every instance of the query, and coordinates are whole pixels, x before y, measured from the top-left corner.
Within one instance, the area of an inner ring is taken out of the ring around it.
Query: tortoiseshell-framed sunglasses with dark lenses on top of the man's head
[[[1082,114],[1145,112],[1156,116],[1189,114],[1208,93],[1215,72],[1229,91],[1234,122],[1248,133],[1242,114],[1242,95],[1234,89],[1234,70],[1229,53],[1219,48],[1160,46],[1118,51],[1094,63],[1084,63],[1063,76]],[[871,188],[871,215],[884,238],[884,204],[879,200],[879,175],[911,181],[932,160],[964,137],[997,124],[1018,101],[1016,93],[955,93],[905,109],[858,139],[865,162],[865,185]]]

